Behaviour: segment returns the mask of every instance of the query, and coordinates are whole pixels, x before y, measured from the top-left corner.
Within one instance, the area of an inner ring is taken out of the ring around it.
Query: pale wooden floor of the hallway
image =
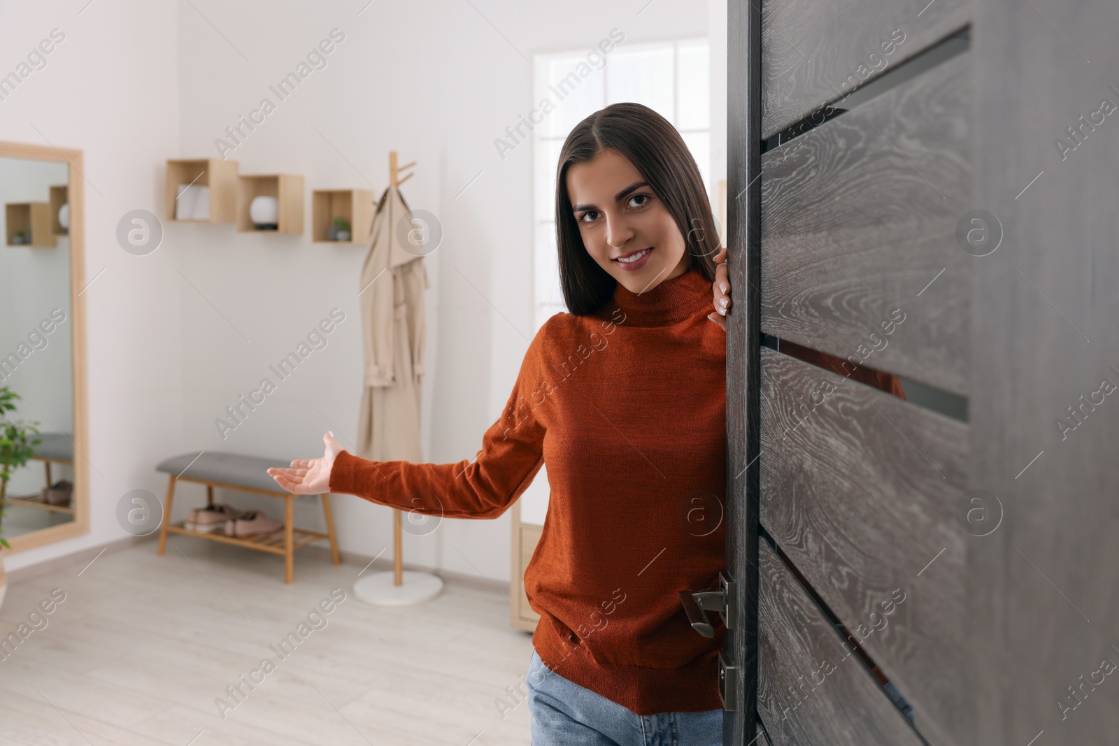
[[[172,536],[163,557],[149,541],[10,584],[0,636],[51,588],[66,599],[0,660],[0,743],[528,744],[528,705],[506,687],[524,680],[532,639],[509,627],[507,584],[452,579],[386,610],[354,597],[359,570],[297,554],[288,586],[281,557]],[[281,660],[269,645],[335,587],[347,598],[328,625]],[[222,719],[215,698],[265,657],[276,670]],[[498,698],[519,702],[505,719]]]

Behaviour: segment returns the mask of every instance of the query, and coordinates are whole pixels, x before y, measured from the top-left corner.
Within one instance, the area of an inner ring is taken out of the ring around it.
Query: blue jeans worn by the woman
[[[722,746],[723,710],[637,715],[552,671],[533,650],[528,662],[533,746]]]

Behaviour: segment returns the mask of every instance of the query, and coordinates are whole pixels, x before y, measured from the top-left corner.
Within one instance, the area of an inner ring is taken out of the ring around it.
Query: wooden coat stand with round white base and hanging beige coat
[[[419,417],[427,270],[423,256],[415,254],[413,246],[403,245],[396,229],[410,211],[398,187],[413,176],[402,179],[401,172],[413,166],[415,161],[397,166],[396,151],[388,154],[389,183],[377,206],[374,238],[358,281],[365,377],[357,451],[373,461],[424,461]],[[373,282],[383,272],[391,276]],[[394,311],[401,305],[407,306],[407,313]],[[410,528],[411,532],[415,531]],[[404,569],[402,538],[401,511],[394,508],[393,569],[356,580],[354,595],[359,599],[377,606],[410,606],[440,594],[443,580],[438,575]]]

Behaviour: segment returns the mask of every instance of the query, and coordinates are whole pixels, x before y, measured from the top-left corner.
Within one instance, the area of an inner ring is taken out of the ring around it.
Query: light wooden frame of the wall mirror
[[[0,158],[21,158],[36,161],[67,163],[69,204],[69,267],[70,267],[70,387],[74,400],[74,520],[48,528],[4,537],[11,549],[0,547],[0,575],[6,556],[34,549],[56,541],[72,539],[90,532],[90,432],[86,402],[85,370],[85,190],[82,176],[82,151],[53,145],[29,145],[0,141]]]

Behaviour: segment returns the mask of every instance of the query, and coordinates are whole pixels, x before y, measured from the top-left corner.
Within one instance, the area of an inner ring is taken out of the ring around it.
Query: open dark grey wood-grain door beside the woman
[[[725,743],[1119,743],[1117,28],[732,0]]]

